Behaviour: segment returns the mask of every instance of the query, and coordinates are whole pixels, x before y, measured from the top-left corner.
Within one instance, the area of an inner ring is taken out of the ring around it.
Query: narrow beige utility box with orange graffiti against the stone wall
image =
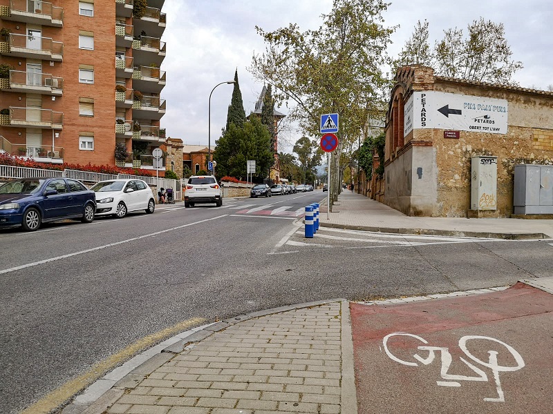
[[[471,157],[471,210],[497,209],[497,157]]]

